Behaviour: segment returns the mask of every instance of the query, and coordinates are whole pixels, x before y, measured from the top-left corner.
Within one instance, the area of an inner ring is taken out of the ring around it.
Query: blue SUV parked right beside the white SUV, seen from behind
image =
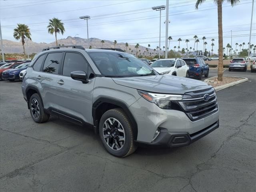
[[[209,66],[201,58],[184,58],[186,64],[189,66],[189,76],[202,79],[202,76],[208,77]]]

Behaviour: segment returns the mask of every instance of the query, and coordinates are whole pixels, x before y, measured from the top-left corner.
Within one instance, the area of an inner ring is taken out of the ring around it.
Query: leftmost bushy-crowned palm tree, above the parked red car
[[[23,54],[26,55],[24,44],[25,44],[26,38],[31,40],[30,29],[25,24],[18,23],[17,25],[18,25],[18,27],[14,29],[13,37],[16,40],[20,40],[20,38],[21,38],[21,42],[22,42],[22,46],[23,46]]]

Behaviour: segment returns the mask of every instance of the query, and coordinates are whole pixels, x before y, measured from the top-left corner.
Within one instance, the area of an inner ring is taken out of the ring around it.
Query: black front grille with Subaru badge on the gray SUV
[[[208,101],[204,100],[205,94],[210,95]],[[196,121],[218,111],[214,88],[188,92],[186,95],[190,96],[190,98],[180,101],[179,104],[190,120]]]

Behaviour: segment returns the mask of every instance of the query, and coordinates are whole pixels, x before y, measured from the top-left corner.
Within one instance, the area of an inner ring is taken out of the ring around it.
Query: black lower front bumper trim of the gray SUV
[[[159,136],[151,143],[137,142],[141,144],[147,144],[150,146],[159,146],[159,147],[182,147],[188,146],[191,143],[199,140],[200,138],[206,136],[210,132],[214,131],[219,127],[219,120],[212,125],[200,130],[194,134],[188,134],[186,132],[164,132],[161,131]]]

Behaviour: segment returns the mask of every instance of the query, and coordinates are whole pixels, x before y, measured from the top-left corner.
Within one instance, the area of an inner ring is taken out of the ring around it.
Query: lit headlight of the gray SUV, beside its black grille
[[[176,109],[177,103],[172,101],[180,101],[183,95],[176,94],[160,94],[160,93],[150,93],[142,90],[138,90],[138,93],[147,101],[156,104],[162,109]]]

